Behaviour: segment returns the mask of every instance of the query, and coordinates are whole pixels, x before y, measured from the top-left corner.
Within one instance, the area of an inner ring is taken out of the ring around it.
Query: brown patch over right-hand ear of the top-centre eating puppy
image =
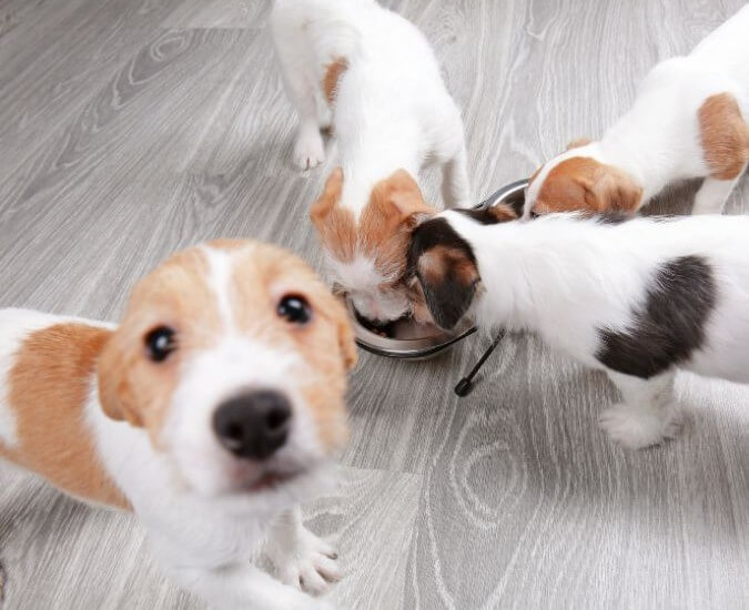
[[[411,233],[419,214],[435,212],[422,197],[411,174],[398,170],[372,189],[358,226],[362,253],[374,260],[382,275],[399,281],[405,272]]]

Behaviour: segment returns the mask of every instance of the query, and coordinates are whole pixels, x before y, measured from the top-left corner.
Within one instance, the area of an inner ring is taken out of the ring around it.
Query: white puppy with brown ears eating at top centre
[[[421,167],[442,166],[447,206],[472,201],[460,113],[434,52],[374,0],[276,0],[271,27],[300,116],[295,163],[323,161],[321,129],[336,136],[342,167],[312,207],[331,279],[364,317],[403,317],[408,236],[435,212],[416,183]]]

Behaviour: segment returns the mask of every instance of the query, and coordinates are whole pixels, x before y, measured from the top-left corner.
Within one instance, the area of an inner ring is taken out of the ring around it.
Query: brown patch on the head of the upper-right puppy
[[[534,212],[625,212],[640,206],[642,187],[621,170],[587,156],[556,165],[544,180]]]

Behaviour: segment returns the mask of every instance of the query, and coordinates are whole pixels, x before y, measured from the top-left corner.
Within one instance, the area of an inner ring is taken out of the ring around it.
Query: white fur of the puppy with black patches
[[[455,212],[443,216],[476,256],[483,291],[474,307],[480,326],[535,332],[596,368],[606,369],[596,359],[598,331],[632,325],[658,268],[679,256],[704,257],[713,270],[717,305],[702,348],[679,367],[749,383],[749,217],[636,218],[605,225],[550,214],[484,226]],[[674,369],[647,380],[606,370],[623,395],[623,404],[601,417],[616,440],[638,448],[674,436]]]

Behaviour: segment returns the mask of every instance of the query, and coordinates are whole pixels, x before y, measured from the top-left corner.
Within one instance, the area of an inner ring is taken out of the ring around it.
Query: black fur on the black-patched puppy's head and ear
[[[426,277],[419,271],[419,258],[439,246],[449,248],[458,256],[445,260],[445,267],[438,279]],[[473,266],[474,278],[469,282],[464,277],[465,265]],[[476,294],[478,272],[470,245],[445,218],[426,221],[412,234],[408,270],[411,275],[418,278],[434,321],[443,328],[453,328],[468,311]]]

